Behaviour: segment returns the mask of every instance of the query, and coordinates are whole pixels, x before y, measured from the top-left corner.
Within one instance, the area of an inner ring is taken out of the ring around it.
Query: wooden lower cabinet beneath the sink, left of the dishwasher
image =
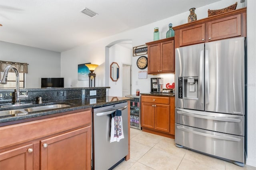
[[[0,170],[90,170],[92,111],[0,127]]]

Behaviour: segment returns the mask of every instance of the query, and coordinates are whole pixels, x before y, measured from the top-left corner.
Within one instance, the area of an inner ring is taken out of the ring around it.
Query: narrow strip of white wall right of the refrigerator
[[[256,167],[256,1],[247,0],[248,152],[246,164]]]

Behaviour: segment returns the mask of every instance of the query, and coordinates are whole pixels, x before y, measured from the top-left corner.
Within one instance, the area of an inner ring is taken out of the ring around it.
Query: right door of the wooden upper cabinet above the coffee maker
[[[174,40],[161,43],[160,72],[174,72]]]

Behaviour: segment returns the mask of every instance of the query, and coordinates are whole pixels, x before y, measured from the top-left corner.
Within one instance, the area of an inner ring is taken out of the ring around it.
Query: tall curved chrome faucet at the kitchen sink
[[[15,92],[15,105],[20,105],[20,99],[28,98],[28,91],[26,91],[26,95],[20,95],[20,78],[19,78],[19,71],[13,65],[8,65],[4,70],[4,76],[2,80],[0,80],[1,84],[7,84],[7,77],[8,72],[10,69],[13,69],[16,74],[16,92]]]

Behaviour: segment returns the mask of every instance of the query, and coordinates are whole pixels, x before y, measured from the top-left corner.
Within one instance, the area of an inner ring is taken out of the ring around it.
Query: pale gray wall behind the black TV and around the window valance
[[[26,88],[41,88],[41,77],[60,77],[60,53],[0,41],[0,60],[28,63]]]

